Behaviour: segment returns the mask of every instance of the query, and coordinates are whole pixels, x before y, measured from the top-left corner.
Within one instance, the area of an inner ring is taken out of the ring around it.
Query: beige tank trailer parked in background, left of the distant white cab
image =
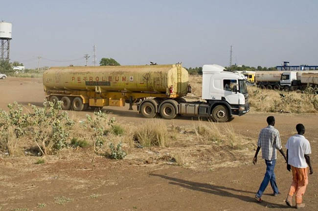
[[[255,83],[261,89],[280,89],[282,71],[256,71]]]

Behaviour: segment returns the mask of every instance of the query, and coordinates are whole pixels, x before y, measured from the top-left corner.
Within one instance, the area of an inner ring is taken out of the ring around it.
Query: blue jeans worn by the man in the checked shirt
[[[259,187],[256,196],[257,197],[261,197],[264,190],[266,189],[267,185],[269,182],[271,182],[271,186],[273,188],[274,194],[278,193],[278,187],[276,185],[276,178],[275,178],[275,173],[274,173],[274,168],[275,168],[275,164],[276,164],[276,160],[273,161],[267,161],[265,160],[266,163],[266,173],[263,179],[263,182],[261,183],[261,186]]]

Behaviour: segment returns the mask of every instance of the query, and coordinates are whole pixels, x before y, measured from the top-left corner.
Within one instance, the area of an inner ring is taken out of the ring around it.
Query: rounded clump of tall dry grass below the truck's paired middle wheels
[[[168,146],[169,139],[167,125],[161,119],[148,120],[138,127],[134,133],[134,140],[144,147]]]

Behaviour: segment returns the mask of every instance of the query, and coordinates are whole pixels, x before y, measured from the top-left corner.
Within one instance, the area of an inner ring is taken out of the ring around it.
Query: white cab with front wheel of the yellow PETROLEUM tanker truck
[[[244,115],[250,111],[246,78],[243,74],[227,71],[220,65],[204,65],[202,98],[212,109],[212,116],[223,121],[232,115]]]

